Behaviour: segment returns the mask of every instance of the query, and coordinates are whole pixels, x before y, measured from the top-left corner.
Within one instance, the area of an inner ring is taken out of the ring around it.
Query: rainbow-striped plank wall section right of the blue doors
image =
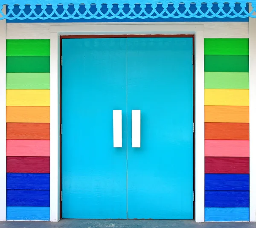
[[[205,221],[248,221],[249,40],[204,42]]]

